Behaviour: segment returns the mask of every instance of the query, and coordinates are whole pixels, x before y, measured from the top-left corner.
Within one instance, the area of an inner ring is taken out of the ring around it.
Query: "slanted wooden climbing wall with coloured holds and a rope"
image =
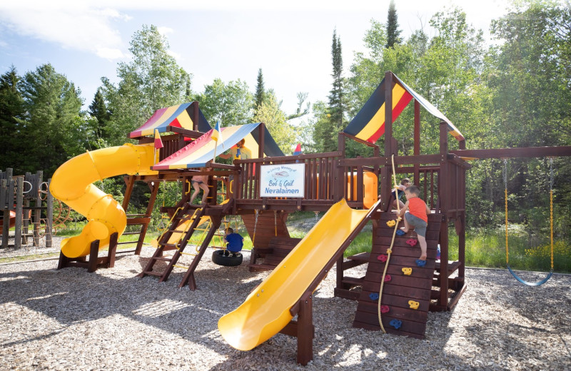
[[[380,281],[394,230],[394,227],[387,225],[389,220],[395,220],[395,213],[381,213],[378,228],[373,235],[373,248],[362,284],[363,290],[358,298],[353,327],[380,330],[378,320]],[[416,233],[409,232],[395,237],[381,295],[381,320],[386,332],[424,338],[441,220],[440,214],[428,216],[426,233],[428,258],[422,268],[415,263],[420,256]],[[403,222],[400,222],[400,226],[403,226]]]

